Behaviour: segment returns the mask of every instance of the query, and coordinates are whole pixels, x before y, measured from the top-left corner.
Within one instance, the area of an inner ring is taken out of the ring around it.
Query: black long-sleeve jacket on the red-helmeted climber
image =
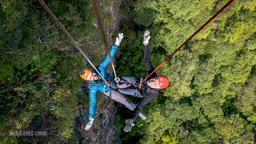
[[[145,61],[146,68],[148,71],[146,76],[144,77],[144,78],[146,78],[149,74],[151,74],[155,70],[155,68],[153,68],[153,66],[151,64],[148,45],[144,46],[144,61]],[[133,110],[133,117],[132,117],[133,120],[135,120],[138,117],[139,113],[142,111],[142,108],[145,107],[149,103],[149,101],[152,100],[153,98],[155,98],[156,95],[158,94],[160,89],[151,88],[150,86],[147,85],[147,81],[156,76],[157,76],[157,74],[156,74],[156,72],[154,72],[151,76],[149,76],[147,78],[147,80],[145,80],[143,82],[144,87],[149,88],[150,90],[153,90],[155,92],[154,93],[147,92],[145,89],[140,89],[140,94],[143,96],[143,99],[140,101],[140,103],[137,105],[137,107]]]

